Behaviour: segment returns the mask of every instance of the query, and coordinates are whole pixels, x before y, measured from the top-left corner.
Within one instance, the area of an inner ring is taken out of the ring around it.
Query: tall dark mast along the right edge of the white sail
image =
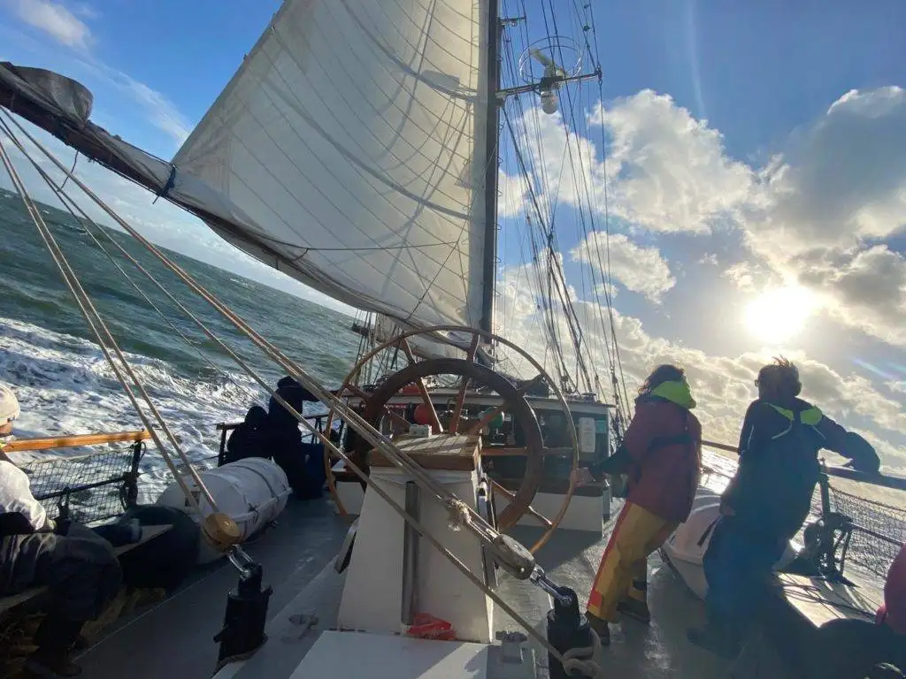
[[[485,261],[481,320],[478,327],[494,328],[494,291],[497,261],[497,163],[499,158],[500,33],[499,0],[487,0],[487,132],[485,136]]]

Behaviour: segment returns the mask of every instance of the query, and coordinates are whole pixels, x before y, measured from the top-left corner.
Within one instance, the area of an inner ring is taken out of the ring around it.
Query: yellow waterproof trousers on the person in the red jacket
[[[670,537],[677,525],[626,502],[601,558],[588,598],[588,612],[607,622],[616,622],[617,604],[622,598],[644,600],[641,583],[647,581],[648,555]],[[632,587],[633,582],[639,584]]]

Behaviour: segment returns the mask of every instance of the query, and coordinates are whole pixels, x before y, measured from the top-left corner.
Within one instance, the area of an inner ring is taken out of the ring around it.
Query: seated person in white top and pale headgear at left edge
[[[111,544],[78,523],[56,526],[34,499],[28,475],[3,453],[19,403],[0,384],[0,597],[45,585],[51,600],[26,662],[41,676],[77,676],[73,644],[116,596],[122,574]],[[65,531],[65,534],[60,534]]]

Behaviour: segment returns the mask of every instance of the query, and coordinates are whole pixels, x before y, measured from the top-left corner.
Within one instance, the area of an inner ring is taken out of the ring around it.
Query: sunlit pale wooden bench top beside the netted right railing
[[[839,618],[873,620],[884,601],[882,588],[782,573],[776,587],[786,602],[815,628]]]

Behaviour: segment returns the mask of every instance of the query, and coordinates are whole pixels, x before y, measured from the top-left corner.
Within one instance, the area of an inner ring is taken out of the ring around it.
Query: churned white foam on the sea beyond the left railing
[[[251,405],[250,392],[266,404],[264,392],[245,376],[230,376],[247,387],[241,388],[226,378],[214,382],[182,377],[163,360],[130,353],[125,356],[193,462],[217,454],[220,433],[215,426],[241,421]],[[15,434],[20,438],[143,428],[101,349],[86,339],[0,318],[0,381],[13,387],[19,399],[22,415],[16,420]],[[149,414],[141,397],[139,401]],[[63,449],[53,455],[98,450]],[[20,459],[46,458],[49,454],[23,454]],[[204,464],[209,465],[213,463]],[[172,477],[150,442],[142,468],[142,500],[152,502]]]

